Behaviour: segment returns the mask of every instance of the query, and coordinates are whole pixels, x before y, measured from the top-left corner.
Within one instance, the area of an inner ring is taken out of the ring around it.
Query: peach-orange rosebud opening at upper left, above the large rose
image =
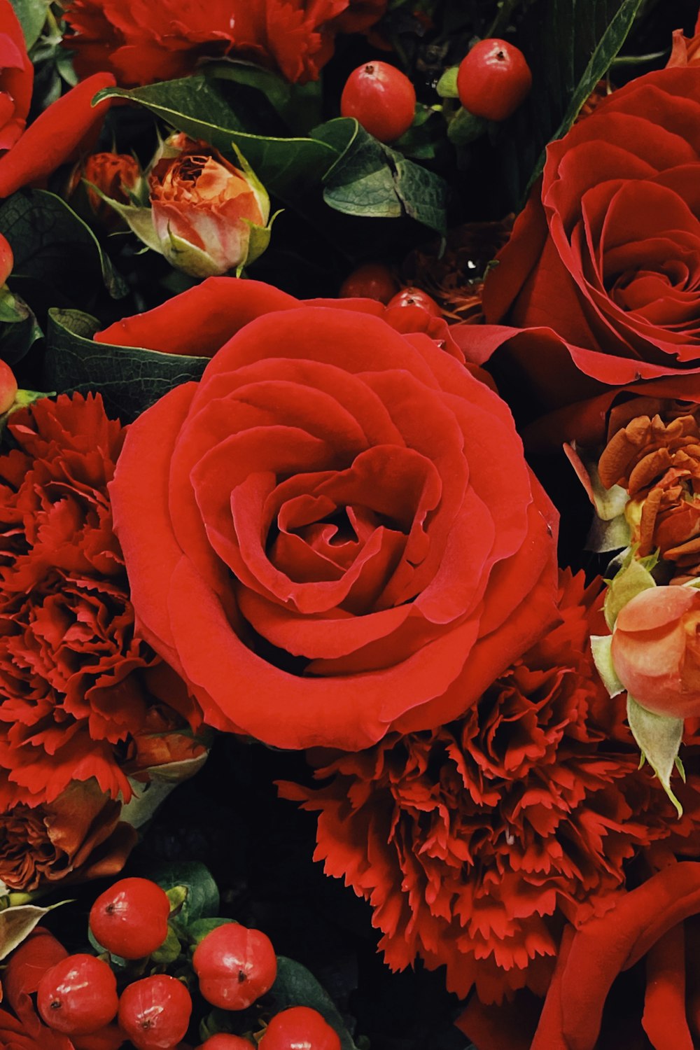
[[[270,198],[241,164],[245,170],[183,133],[164,144],[149,175],[150,203],[160,250],[172,266],[195,277],[220,275],[267,248]]]

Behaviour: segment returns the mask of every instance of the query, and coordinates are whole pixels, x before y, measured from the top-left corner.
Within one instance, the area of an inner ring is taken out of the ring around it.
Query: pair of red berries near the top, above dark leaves
[[[532,74],[523,51],[507,40],[480,40],[460,64],[460,102],[474,117],[505,121],[525,101]],[[389,143],[405,134],[416,117],[416,91],[405,74],[387,62],[367,62],[347,78],[340,97],[342,117]]]

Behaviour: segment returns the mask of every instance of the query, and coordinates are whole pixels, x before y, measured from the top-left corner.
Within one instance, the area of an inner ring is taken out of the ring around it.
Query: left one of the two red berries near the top
[[[340,113],[354,117],[380,142],[394,142],[413,123],[413,85],[387,62],[367,62],[347,78],[340,97]]]

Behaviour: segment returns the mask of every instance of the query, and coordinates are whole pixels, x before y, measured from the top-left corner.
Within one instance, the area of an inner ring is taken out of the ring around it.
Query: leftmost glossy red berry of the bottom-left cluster
[[[49,1028],[89,1035],[113,1020],[116,978],[94,956],[68,956],[46,970],[37,989],[37,1008]]]

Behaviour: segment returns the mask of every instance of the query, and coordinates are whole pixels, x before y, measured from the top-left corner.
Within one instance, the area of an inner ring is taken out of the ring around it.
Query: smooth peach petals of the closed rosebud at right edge
[[[700,717],[700,591],[650,587],[620,610],[611,655],[618,678],[648,711]]]

